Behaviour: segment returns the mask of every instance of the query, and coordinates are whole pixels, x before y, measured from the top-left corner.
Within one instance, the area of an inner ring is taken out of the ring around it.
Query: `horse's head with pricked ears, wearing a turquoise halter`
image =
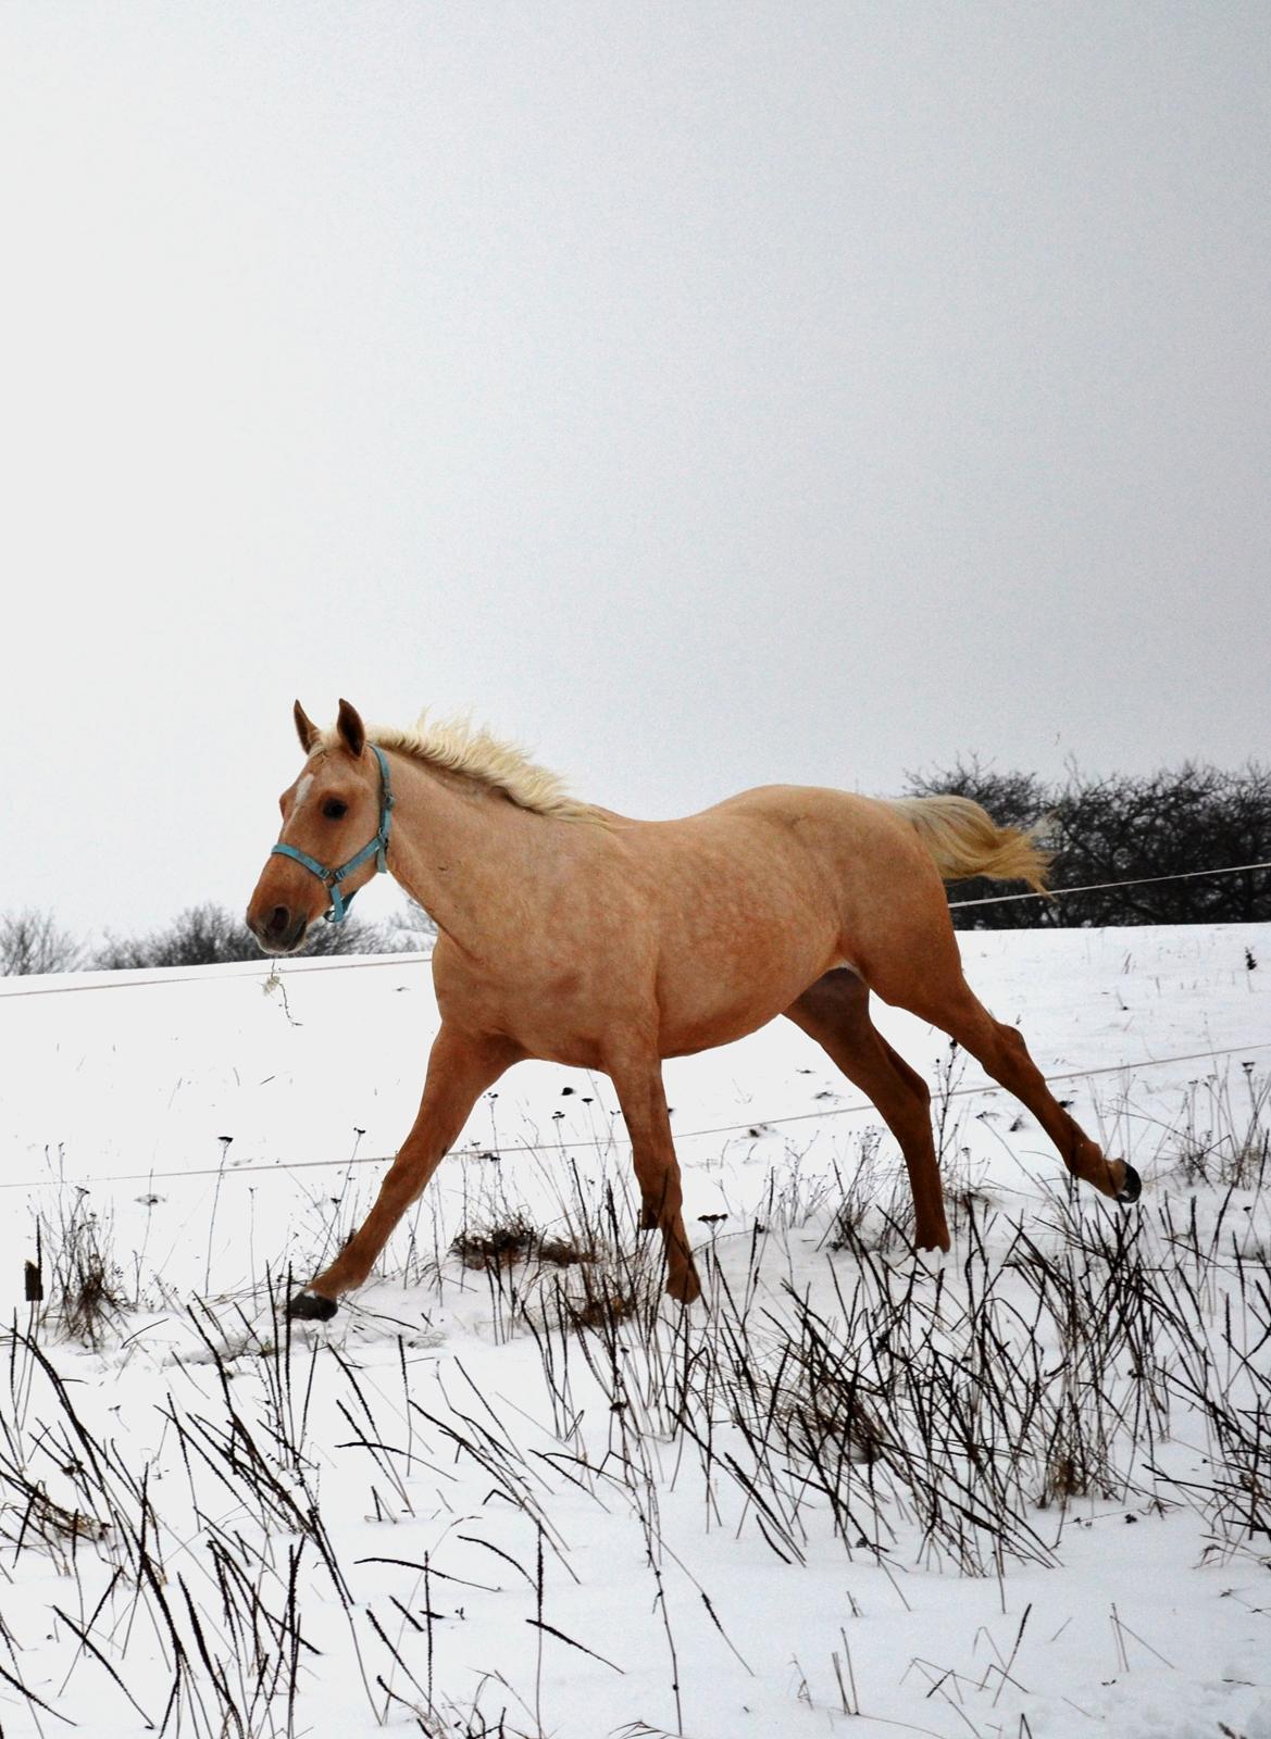
[[[290,955],[318,918],[339,923],[348,903],[386,868],[388,763],[367,743],[348,701],[327,737],[296,703],[296,730],[308,756],[278,798],[282,833],[247,906],[247,927],[270,955]]]

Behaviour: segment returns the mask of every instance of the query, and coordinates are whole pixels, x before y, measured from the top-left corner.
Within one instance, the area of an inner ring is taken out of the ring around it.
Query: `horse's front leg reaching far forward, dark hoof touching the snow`
[[[362,1285],[393,1228],[457,1141],[478,1097],[518,1056],[520,1050],[506,1038],[442,1026],[428,1057],[419,1113],[379,1186],[376,1205],[330,1268],[292,1297],[289,1316],[334,1316],[339,1296]]]

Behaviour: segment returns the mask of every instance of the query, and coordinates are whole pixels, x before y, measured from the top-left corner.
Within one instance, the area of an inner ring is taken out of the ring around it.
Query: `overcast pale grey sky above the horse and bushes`
[[[0,906],[242,908],[296,694],[649,816],[1266,758],[1269,94],[1264,0],[7,0]]]

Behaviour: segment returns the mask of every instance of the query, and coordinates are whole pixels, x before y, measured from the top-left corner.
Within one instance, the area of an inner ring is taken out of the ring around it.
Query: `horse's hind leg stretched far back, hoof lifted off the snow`
[[[887,991],[880,991],[880,995],[887,996]],[[1075,1177],[1081,1177],[1118,1202],[1137,1200],[1141,1183],[1134,1167],[1123,1160],[1104,1158],[1102,1148],[1064,1111],[1047,1087],[1045,1076],[1028,1054],[1022,1033],[993,1019],[972,993],[960,967],[956,972],[932,972],[923,979],[922,988],[908,995],[887,996],[887,1000],[899,1002],[920,1019],[942,1028],[949,1038],[956,1038],[995,1082],[1000,1082],[1007,1092],[1028,1106]]]

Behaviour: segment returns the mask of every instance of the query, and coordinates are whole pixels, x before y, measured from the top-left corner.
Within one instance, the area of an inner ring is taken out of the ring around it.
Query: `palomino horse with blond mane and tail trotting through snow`
[[[683,1228],[662,1057],[725,1045],[777,1014],[873,1099],[909,1170],[920,1250],[949,1249],[925,1082],[875,1029],[869,991],[949,1033],[1036,1116],[1069,1172],[1118,1202],[1139,1177],[1047,1090],[1024,1040],[962,976],[942,878],[1041,887],[1045,854],[958,796],[882,800],[805,786],[742,791],[685,821],[628,821],[464,727],[367,734],[339,703],[318,730],[296,703],[304,769],[247,908],[287,955],[316,918],[391,870],[435,918],[442,1028],[419,1115],[376,1205],[290,1301],[327,1318],[360,1287],[469,1111],[522,1057],[602,1069],[659,1228],[666,1290],[701,1287]]]

